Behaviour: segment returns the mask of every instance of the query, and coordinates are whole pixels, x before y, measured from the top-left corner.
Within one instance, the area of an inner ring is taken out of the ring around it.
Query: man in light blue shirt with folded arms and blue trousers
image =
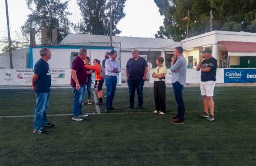
[[[105,61],[105,84],[106,84],[106,103],[105,112],[116,110],[113,107],[113,99],[116,91],[117,76],[121,72],[119,63],[116,61],[117,52],[110,52],[110,59]]]

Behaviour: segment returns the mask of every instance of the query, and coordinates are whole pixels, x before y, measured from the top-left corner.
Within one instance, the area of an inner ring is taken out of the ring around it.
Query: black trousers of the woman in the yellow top
[[[166,112],[165,89],[164,81],[154,82],[154,97],[157,111]]]

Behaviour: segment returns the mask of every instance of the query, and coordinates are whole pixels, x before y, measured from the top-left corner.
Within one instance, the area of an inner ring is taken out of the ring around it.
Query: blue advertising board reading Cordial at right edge
[[[224,69],[224,83],[256,82],[256,69]]]

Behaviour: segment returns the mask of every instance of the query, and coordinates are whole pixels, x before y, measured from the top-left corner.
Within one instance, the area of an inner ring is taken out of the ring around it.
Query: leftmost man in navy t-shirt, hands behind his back
[[[34,66],[31,89],[35,91],[36,105],[34,114],[34,134],[46,134],[45,127],[54,127],[48,122],[46,110],[49,106],[51,70],[47,63],[51,59],[51,51],[47,48],[40,50],[41,58]]]

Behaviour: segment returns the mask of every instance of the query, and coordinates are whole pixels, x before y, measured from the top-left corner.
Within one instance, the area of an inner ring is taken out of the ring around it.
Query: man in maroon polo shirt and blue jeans
[[[78,56],[72,62],[71,81],[74,92],[73,117],[74,121],[82,121],[80,116],[88,116],[82,114],[82,95],[86,84],[87,72],[84,67],[83,60],[87,57],[87,50],[81,48]],[[80,115],[80,116],[79,116]]]

